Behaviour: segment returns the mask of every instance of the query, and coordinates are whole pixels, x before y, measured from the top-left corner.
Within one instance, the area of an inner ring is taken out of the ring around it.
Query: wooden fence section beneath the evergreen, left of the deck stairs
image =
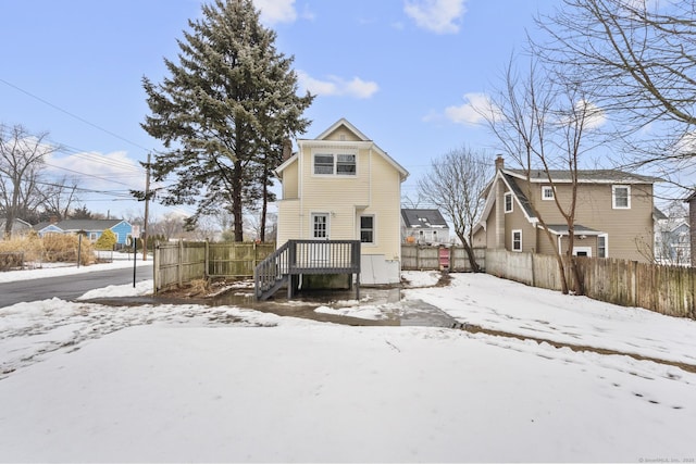
[[[154,292],[211,277],[253,277],[274,243],[160,242],[154,247]]]

